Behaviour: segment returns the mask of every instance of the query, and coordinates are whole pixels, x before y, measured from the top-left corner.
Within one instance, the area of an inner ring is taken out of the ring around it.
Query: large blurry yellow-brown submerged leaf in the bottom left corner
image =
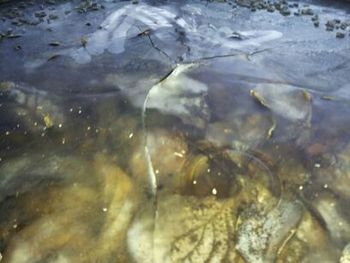
[[[79,176],[71,184],[27,190],[27,200],[19,196],[34,215],[26,225],[24,211],[9,211],[21,231],[10,237],[6,262],[127,261],[125,234],[137,203],[130,179],[103,155],[84,166],[91,170],[80,176],[95,177],[101,188]]]

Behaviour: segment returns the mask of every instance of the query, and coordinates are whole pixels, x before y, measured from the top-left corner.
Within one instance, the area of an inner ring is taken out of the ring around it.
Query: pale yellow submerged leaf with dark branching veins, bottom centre
[[[237,204],[215,198],[160,198],[154,229],[152,214],[145,213],[129,230],[135,261],[238,262],[233,239]]]

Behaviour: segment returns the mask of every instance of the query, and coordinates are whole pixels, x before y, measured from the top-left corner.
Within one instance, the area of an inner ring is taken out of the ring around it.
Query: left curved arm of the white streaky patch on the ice
[[[101,55],[105,51],[120,54],[125,51],[125,41],[129,32],[134,36],[140,32],[138,25],[147,29],[157,30],[171,28],[173,24],[187,27],[183,19],[175,19],[172,12],[145,4],[127,5],[111,13],[101,24],[99,30],[87,37],[85,47],[63,51],[64,55],[72,57],[77,63],[84,64],[91,61],[91,57]]]

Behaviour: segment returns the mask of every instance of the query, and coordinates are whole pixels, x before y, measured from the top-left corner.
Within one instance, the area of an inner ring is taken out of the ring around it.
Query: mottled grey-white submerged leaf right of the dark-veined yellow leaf
[[[247,262],[275,262],[278,251],[297,228],[302,208],[282,200],[265,213],[248,209],[239,219],[236,249]]]

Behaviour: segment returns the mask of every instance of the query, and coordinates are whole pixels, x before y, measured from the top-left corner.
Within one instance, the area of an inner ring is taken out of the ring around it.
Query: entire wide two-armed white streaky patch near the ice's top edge
[[[205,18],[205,14],[202,15],[198,8],[190,12],[185,11],[182,17],[178,17],[175,11],[170,10],[169,7],[129,4],[112,12],[101,23],[100,29],[86,36],[84,46],[61,50],[58,54],[71,57],[78,64],[89,63],[93,56],[101,55],[105,51],[120,54],[125,51],[126,40],[137,36],[142,29],[152,30],[157,41],[166,42],[167,34],[164,34],[164,30],[172,33],[174,27],[178,27],[186,34],[188,42],[186,45],[191,50],[198,50],[199,53],[203,48],[214,52],[216,49],[212,50],[213,47],[224,48],[226,51],[226,49],[260,46],[264,42],[282,36],[281,32],[274,30],[253,30],[238,32],[242,36],[241,39],[232,38],[232,34],[237,32],[229,27],[212,25]],[[160,29],[162,31],[159,31]],[[174,39],[174,41],[176,40]],[[170,44],[172,45],[172,43]],[[28,63],[27,66],[28,68],[36,68],[44,64],[46,60],[47,58],[38,59]]]

